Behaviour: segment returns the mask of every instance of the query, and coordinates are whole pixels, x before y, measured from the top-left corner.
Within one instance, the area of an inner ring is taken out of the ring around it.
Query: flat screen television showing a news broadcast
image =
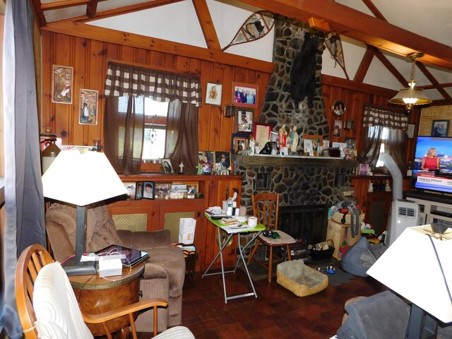
[[[429,148],[436,148],[439,157],[439,170],[423,171],[422,158]],[[418,136],[413,167],[415,188],[428,191],[452,193],[452,138]]]

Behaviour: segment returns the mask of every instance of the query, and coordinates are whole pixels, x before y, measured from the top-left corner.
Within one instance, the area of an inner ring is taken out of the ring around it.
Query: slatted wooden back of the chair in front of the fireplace
[[[278,230],[280,194],[258,193],[251,196],[253,215],[267,230]]]

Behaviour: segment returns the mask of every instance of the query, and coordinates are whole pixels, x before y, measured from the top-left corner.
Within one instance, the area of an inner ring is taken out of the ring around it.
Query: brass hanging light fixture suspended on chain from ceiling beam
[[[412,53],[408,54],[408,59],[412,60],[411,66],[411,80],[408,83],[410,87],[403,88],[400,90],[395,97],[389,100],[390,104],[405,105],[408,112],[411,111],[413,105],[427,105],[432,102],[432,100],[425,95],[422,88],[415,88],[415,66],[416,59],[424,57],[423,53]]]

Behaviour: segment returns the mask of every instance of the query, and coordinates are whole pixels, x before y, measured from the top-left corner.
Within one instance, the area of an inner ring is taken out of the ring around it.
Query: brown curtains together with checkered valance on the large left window
[[[138,130],[141,129],[141,144],[143,143],[144,123],[137,124],[138,119],[131,118],[129,114],[126,119],[126,114],[114,113],[114,101],[109,98],[123,95],[170,102],[165,157],[168,157],[173,165],[184,162],[184,172],[194,172],[198,156],[198,107],[201,107],[202,102],[200,78],[190,73],[172,73],[112,61],[108,63],[105,80],[108,106],[108,109],[105,109],[105,155],[112,163],[117,164],[115,168],[119,173],[138,172],[138,145],[129,152],[133,157],[125,156],[127,148],[124,148],[123,154],[122,146],[115,145],[121,140],[121,133],[117,132],[121,129],[133,131],[131,134],[137,136]],[[136,113],[131,112],[131,115],[133,114]],[[126,139],[124,138],[124,143]],[[141,148],[139,153],[138,157],[141,158]]]

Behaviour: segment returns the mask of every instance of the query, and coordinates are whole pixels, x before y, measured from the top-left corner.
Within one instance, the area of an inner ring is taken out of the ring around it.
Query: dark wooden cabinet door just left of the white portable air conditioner
[[[386,230],[391,201],[392,192],[369,192],[367,194],[364,222],[372,225],[377,236]]]

